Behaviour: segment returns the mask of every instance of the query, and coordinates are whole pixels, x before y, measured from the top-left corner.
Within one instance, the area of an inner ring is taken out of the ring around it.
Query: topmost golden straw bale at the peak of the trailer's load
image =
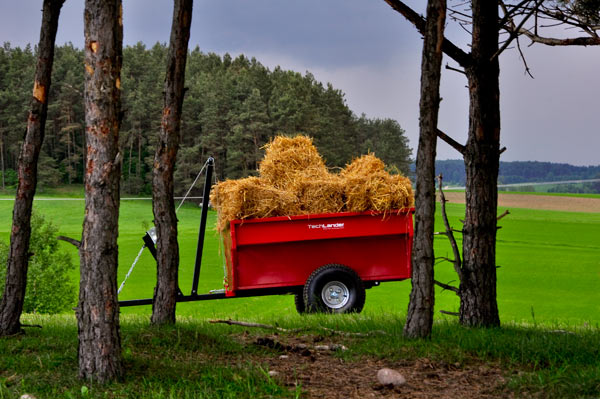
[[[312,139],[307,136],[277,136],[265,146],[265,157],[258,168],[260,177],[276,188],[285,189],[302,173],[305,177],[329,174]]]

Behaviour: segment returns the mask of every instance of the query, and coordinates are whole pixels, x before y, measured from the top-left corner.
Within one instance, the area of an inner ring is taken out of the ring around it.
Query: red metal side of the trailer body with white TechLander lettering
[[[301,286],[329,263],[354,269],[364,281],[410,278],[412,236],[412,210],[236,220],[227,293]]]

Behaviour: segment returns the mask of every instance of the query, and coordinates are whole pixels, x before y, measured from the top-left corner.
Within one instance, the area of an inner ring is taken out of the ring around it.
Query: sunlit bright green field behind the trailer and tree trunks
[[[62,197],[62,196],[61,196]],[[52,220],[62,235],[79,238],[84,203],[81,200],[36,200],[38,212]],[[12,201],[0,201],[0,238],[8,240]],[[504,209],[499,209],[499,213]],[[600,214],[511,209],[498,231],[498,304],[504,323],[591,326],[600,324]],[[460,228],[464,205],[448,204],[451,224]],[[214,226],[210,213],[209,226]],[[438,215],[439,216],[439,215]],[[189,293],[195,257],[200,209],[186,204],[179,213],[181,248],[180,286]],[[438,217],[437,229],[442,230]],[[148,200],[121,203],[119,232],[119,284],[141,248],[145,230],[151,226]],[[436,254],[451,254],[445,238],[436,238]],[[61,244],[77,262],[76,249]],[[222,288],[223,258],[218,235],[207,232],[199,292]],[[121,299],[150,298],[155,284],[155,266],[144,251],[121,294]],[[76,275],[73,279],[77,279]],[[456,280],[449,263],[436,266],[436,279]],[[366,315],[394,314],[402,317],[408,305],[410,282],[385,283],[367,292]],[[438,291],[438,310],[457,311],[458,298],[452,292]],[[149,315],[149,306],[124,308],[123,313]],[[269,319],[295,316],[291,296],[270,296],[178,304],[179,316],[201,319]],[[436,312],[436,318],[448,319]]]

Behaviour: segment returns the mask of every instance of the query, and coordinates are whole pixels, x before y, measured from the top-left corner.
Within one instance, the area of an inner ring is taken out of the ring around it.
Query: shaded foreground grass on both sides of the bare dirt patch
[[[268,359],[278,352],[253,345],[265,332],[213,325],[179,317],[175,326],[150,328],[146,317],[125,315],[121,322],[124,381],[109,385],[82,382],[77,376],[76,322],[73,316],[25,317],[43,329],[0,339],[0,398],[29,393],[37,398],[286,398],[302,387],[284,386],[269,376]],[[466,329],[438,321],[430,341],[402,336],[398,315],[307,315],[265,317],[302,334],[322,336],[322,327],[339,331],[385,331],[364,337],[334,337],[348,350],[343,361],[385,359],[473,367],[501,367],[505,389],[546,398],[593,397],[600,393],[600,331],[594,328],[553,331],[507,325],[501,329]],[[296,335],[296,334],[293,334]],[[280,333],[281,340],[289,337]]]

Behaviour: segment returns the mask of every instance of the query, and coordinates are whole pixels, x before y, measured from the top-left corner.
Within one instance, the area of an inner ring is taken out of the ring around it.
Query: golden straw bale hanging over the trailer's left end
[[[264,218],[299,213],[296,196],[270,186],[259,177],[226,180],[212,189],[210,201],[218,210],[217,230],[236,219]]]

